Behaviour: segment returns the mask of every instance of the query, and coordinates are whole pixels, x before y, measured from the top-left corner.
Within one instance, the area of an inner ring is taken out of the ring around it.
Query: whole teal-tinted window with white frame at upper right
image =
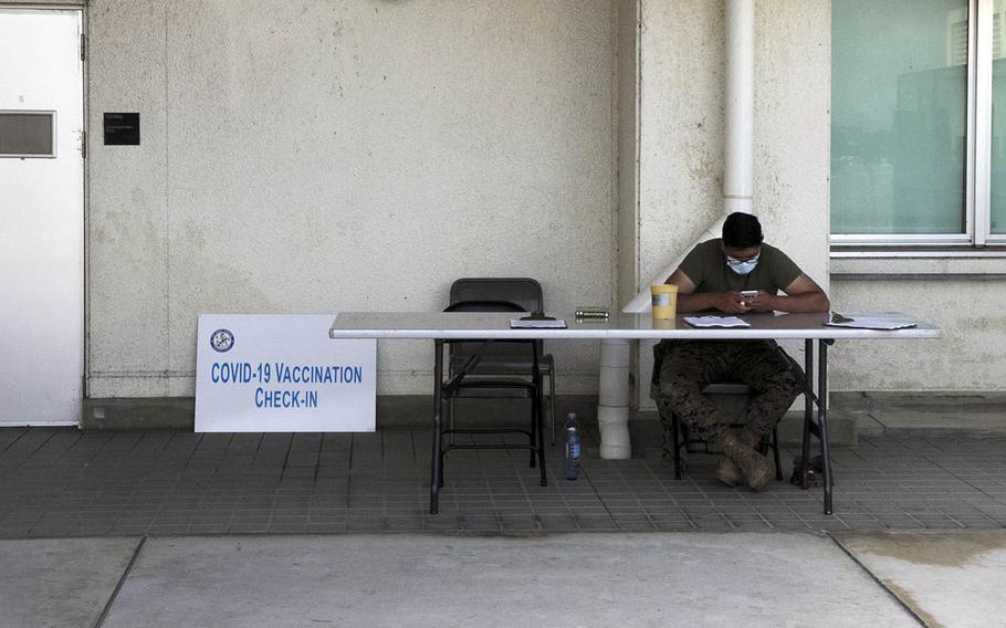
[[[1006,0],[834,0],[831,243],[1006,244]]]

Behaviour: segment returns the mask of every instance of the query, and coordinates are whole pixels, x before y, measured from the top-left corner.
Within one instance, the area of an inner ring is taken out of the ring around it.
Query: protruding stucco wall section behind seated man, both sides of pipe
[[[639,285],[723,213],[724,2],[643,0]],[[766,241],[828,290],[830,2],[755,4],[754,208]],[[666,279],[666,278],[663,278]],[[652,407],[651,344],[637,400]],[[797,359],[801,347],[787,346]]]

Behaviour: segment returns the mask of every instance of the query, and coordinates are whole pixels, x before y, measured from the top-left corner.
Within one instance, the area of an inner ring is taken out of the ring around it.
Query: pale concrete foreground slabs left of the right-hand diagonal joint
[[[12,540],[0,563],[6,628],[919,625],[803,533]]]

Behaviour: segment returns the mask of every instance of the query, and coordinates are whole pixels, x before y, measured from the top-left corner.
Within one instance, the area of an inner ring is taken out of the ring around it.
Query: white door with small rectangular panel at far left
[[[0,8],[0,427],[81,418],[81,25],[78,10]]]

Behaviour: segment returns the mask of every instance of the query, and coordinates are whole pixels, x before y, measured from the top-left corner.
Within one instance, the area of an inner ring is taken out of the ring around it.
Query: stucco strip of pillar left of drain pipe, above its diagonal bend
[[[639,285],[722,213],[723,2],[643,0]]]

